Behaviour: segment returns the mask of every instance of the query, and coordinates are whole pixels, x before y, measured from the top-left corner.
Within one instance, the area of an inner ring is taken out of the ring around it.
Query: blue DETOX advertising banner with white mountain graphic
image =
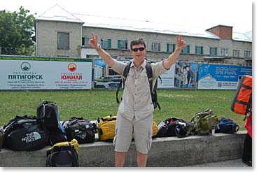
[[[199,64],[198,89],[237,89],[244,75],[252,75],[251,66]]]

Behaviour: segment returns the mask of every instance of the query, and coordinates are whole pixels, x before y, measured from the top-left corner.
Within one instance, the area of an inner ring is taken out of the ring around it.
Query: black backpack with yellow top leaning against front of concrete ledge
[[[47,167],[78,167],[78,141],[56,143],[46,152]]]

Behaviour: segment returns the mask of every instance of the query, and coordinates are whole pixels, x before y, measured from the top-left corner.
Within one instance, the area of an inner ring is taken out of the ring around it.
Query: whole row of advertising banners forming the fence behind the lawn
[[[126,62],[126,61],[123,61]],[[116,89],[120,76],[102,59],[0,56],[0,89]],[[159,89],[237,89],[251,66],[176,62]]]

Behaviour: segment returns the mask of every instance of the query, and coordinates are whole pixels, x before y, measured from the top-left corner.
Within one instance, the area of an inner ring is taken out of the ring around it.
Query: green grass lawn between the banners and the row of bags
[[[122,91],[120,91],[120,96]],[[68,117],[85,117],[96,120],[97,117],[116,115],[116,90],[81,91],[1,91],[0,125],[15,115],[36,115],[36,106],[41,101],[55,101],[61,120]],[[177,117],[190,121],[195,113],[211,108],[221,117],[230,117],[244,128],[244,115],[230,110],[235,90],[158,90],[161,110],[155,109],[153,115],[157,123],[168,117]]]

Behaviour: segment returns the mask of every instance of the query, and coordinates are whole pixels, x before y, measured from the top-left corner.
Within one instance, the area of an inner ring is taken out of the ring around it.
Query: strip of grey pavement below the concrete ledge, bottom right
[[[198,164],[193,166],[185,166],[185,167],[244,167],[247,169],[251,169],[251,166],[247,166],[242,162],[242,159],[234,159],[225,162],[213,162],[207,164]]]

